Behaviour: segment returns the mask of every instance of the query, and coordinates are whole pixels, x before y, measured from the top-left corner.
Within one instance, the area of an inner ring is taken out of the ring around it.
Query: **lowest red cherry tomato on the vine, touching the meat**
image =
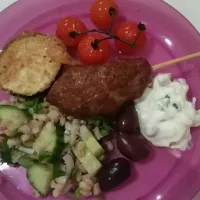
[[[97,65],[108,61],[110,48],[106,40],[95,45],[95,41],[101,40],[100,34],[94,33],[86,35],[78,45],[78,55],[83,64]]]

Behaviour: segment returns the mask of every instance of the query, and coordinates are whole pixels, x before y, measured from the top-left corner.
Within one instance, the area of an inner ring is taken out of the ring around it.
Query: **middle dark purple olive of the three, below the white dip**
[[[116,140],[120,153],[132,161],[144,160],[150,153],[149,144],[140,136],[120,132]]]

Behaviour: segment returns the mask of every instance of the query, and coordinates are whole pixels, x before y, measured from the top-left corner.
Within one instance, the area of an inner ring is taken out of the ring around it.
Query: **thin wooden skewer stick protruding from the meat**
[[[180,58],[176,58],[174,60],[170,60],[170,61],[167,61],[167,62],[163,62],[163,63],[157,64],[157,65],[154,65],[152,68],[153,68],[153,70],[157,70],[157,69],[161,69],[163,67],[169,66],[169,65],[174,65],[174,64],[181,63],[181,62],[184,62],[184,61],[187,61],[187,60],[191,60],[191,59],[194,59],[194,58],[197,58],[197,57],[200,57],[200,52],[193,53],[193,54],[183,56],[183,57],[180,57]]]

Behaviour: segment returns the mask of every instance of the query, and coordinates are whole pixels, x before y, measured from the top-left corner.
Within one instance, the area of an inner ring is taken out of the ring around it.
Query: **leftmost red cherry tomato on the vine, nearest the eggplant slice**
[[[72,38],[69,33],[72,31],[85,32],[87,31],[84,23],[75,17],[64,17],[57,24],[56,35],[63,40],[66,46],[76,46],[84,35]]]

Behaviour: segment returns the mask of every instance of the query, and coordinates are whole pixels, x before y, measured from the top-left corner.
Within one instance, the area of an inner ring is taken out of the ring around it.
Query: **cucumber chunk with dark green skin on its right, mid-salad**
[[[45,155],[45,161],[58,162],[64,149],[64,128],[47,123],[35,140],[33,149],[37,152],[39,158]]]

